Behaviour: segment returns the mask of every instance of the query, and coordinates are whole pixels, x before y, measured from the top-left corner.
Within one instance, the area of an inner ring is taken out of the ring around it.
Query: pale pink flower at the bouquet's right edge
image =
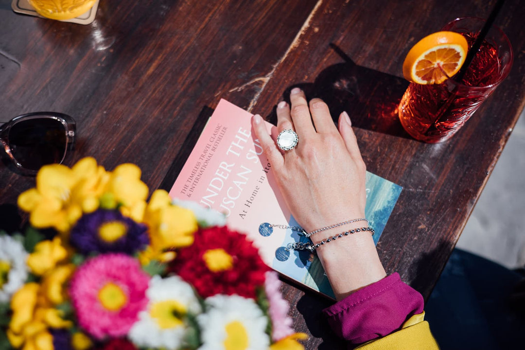
[[[264,288],[268,302],[270,303],[268,313],[272,324],[271,338],[274,342],[277,342],[295,333],[291,327],[293,321],[291,317],[288,316],[290,305],[288,305],[286,300],[282,299],[281,281],[279,281],[277,273],[275,271],[268,271],[265,277]]]

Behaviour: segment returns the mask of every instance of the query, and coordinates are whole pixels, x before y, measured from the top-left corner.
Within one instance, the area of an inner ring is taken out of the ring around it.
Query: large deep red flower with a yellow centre
[[[245,235],[223,226],[197,232],[193,245],[177,252],[170,271],[192,284],[203,298],[237,294],[255,299],[269,268]]]

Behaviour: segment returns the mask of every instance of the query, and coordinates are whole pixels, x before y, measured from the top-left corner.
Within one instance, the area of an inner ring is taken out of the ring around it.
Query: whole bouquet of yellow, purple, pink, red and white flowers
[[[303,349],[275,272],[224,215],[141,171],[47,165],[0,233],[0,349]]]

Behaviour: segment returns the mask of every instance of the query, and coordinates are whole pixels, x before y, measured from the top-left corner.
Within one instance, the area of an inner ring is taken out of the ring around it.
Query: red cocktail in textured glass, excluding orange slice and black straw
[[[461,18],[442,30],[461,33],[471,47],[484,22],[479,18]],[[398,110],[401,124],[417,140],[448,140],[507,77],[511,66],[509,40],[493,27],[460,82],[452,77],[440,84],[408,86]]]

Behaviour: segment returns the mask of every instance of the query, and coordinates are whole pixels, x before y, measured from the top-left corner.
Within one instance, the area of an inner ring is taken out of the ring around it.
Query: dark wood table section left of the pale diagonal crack
[[[314,4],[101,2],[89,26],[2,7],[0,52],[13,66],[1,80],[2,114],[68,113],[78,129],[69,164],[133,162],[154,189],[203,108],[220,98],[248,107]],[[2,167],[0,184],[1,200],[15,203],[34,179]]]

